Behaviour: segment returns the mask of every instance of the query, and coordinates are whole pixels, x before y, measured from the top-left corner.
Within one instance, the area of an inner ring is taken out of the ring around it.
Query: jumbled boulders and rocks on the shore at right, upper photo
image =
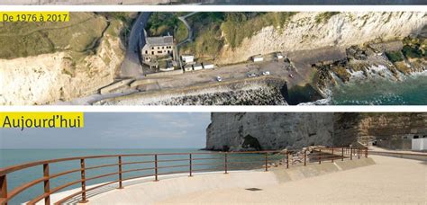
[[[427,72],[427,40],[405,38],[352,46],[347,58],[313,65],[318,71],[316,86],[328,96],[334,86],[368,80],[404,81]]]

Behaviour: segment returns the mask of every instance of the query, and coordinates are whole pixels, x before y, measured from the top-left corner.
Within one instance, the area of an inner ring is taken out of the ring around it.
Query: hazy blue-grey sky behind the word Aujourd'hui
[[[203,148],[209,112],[86,112],[83,129],[0,129],[0,148]]]

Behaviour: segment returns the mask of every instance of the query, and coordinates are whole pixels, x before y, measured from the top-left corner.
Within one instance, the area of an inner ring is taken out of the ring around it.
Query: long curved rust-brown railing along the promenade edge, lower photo
[[[152,157],[152,160],[147,161],[126,161],[125,158],[132,157]],[[180,156],[178,159],[162,159],[163,156]],[[208,157],[204,157],[208,156]],[[59,158],[51,159],[45,161],[38,161],[32,163],[26,163],[23,165],[13,165],[0,169],[0,204],[7,204],[9,201],[14,199],[18,194],[26,191],[32,186],[43,183],[43,193],[35,198],[32,198],[27,204],[35,204],[39,201],[44,200],[45,204],[50,204],[50,196],[54,193],[62,191],[70,186],[79,184],[80,191],[74,192],[67,197],[56,201],[55,204],[61,204],[65,201],[69,201],[72,198],[77,196],[80,197],[79,202],[87,202],[87,192],[94,191],[101,187],[117,184],[118,189],[123,189],[123,182],[138,179],[142,177],[152,177],[154,181],[159,181],[159,175],[167,174],[188,174],[193,176],[195,173],[200,172],[210,172],[210,171],[223,171],[224,174],[232,169],[240,170],[245,164],[256,164],[251,168],[262,168],[265,171],[268,171],[268,168],[272,166],[286,167],[289,168],[291,165],[307,165],[309,163],[318,163],[322,164],[325,161],[334,160],[344,160],[344,159],[354,159],[360,158],[361,156],[368,157],[368,149],[363,148],[350,148],[350,147],[323,147],[311,149],[310,151],[305,150],[286,150],[286,151],[251,151],[251,152],[201,152],[201,153],[159,153],[159,154],[132,154],[132,155],[108,155],[108,156],[81,156],[81,157],[69,157],[69,158]],[[296,157],[296,159],[295,159]],[[104,164],[104,165],[86,165],[86,161],[89,159],[104,159],[104,158],[116,158],[117,163],[114,164]],[[233,159],[233,160],[231,160]],[[236,160],[237,159],[237,160]],[[244,159],[244,160],[243,160]],[[204,163],[198,163],[200,161]],[[59,172],[56,174],[50,173],[50,165],[59,164],[63,162],[77,161],[80,166],[75,169]],[[206,163],[208,162],[208,163]],[[170,164],[170,163],[181,163],[179,165],[159,165],[161,164]],[[140,167],[135,169],[124,169],[126,165],[152,165],[149,167]],[[231,166],[234,168],[231,168]],[[279,166],[281,165],[281,166]],[[32,180],[29,183],[23,183],[13,190],[8,190],[7,176],[8,174],[13,174],[17,171],[29,169],[32,167],[42,167],[42,176],[41,178]],[[201,166],[208,166],[208,168],[199,168]],[[105,167],[116,167],[117,171],[108,174],[100,174],[91,177],[86,177],[86,171],[88,170],[97,170]],[[176,172],[162,172],[159,170],[173,169],[173,168],[185,168],[184,171]],[[132,177],[123,177],[123,174],[129,173],[141,173],[142,171],[150,171],[152,174],[141,174],[135,175]],[[58,178],[60,176],[65,176],[68,174],[80,173],[78,180],[60,184],[55,188],[50,187],[50,181],[52,179]],[[106,181],[104,183],[98,183],[94,186],[87,188],[86,183],[96,179],[102,179],[106,177],[116,176],[116,180]]]

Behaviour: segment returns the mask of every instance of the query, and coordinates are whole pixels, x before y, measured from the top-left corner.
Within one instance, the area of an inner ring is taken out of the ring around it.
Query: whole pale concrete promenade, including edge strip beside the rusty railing
[[[112,184],[88,194],[88,204],[425,204],[427,162],[388,156],[352,161],[160,176]],[[89,188],[89,187],[88,187]],[[247,189],[257,188],[258,191]],[[58,201],[77,190],[52,195]],[[75,204],[79,198],[68,201]],[[42,202],[42,201],[41,201]]]

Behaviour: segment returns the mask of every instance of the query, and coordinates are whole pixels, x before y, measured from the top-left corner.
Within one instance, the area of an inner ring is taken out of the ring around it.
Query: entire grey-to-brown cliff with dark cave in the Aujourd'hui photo
[[[427,113],[213,113],[206,148],[253,150],[349,146],[427,135]]]

